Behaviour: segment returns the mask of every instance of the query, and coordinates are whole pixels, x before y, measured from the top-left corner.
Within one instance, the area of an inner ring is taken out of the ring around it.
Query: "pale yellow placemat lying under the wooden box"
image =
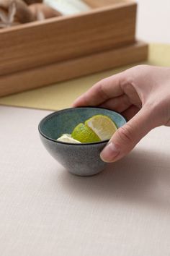
[[[158,66],[170,66],[170,45],[151,44],[149,46],[147,63]],[[67,82],[59,82],[55,85],[29,90],[24,93],[9,95],[0,98],[0,104],[50,110],[68,108],[71,106],[74,99],[94,85],[95,82],[104,77],[121,72],[128,67],[130,66],[111,69],[109,71],[100,72],[97,74],[91,74],[89,76],[69,80]]]

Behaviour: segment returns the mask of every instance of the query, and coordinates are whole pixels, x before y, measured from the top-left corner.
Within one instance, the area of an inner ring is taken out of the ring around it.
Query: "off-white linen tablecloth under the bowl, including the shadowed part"
[[[0,255],[169,256],[170,128],[82,178],[43,148],[49,113],[0,106]]]

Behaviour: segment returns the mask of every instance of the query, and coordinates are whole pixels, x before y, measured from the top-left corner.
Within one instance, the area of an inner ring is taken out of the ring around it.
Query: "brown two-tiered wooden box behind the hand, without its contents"
[[[91,11],[0,30],[0,95],[143,61],[137,4],[86,0]]]

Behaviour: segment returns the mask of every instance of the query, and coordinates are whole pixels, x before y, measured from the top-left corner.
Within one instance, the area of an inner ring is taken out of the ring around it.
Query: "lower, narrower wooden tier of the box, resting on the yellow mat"
[[[147,55],[148,46],[146,43],[137,42],[130,46],[104,51],[99,54],[0,76],[0,95],[18,93],[104,69],[133,64],[146,60]]]

